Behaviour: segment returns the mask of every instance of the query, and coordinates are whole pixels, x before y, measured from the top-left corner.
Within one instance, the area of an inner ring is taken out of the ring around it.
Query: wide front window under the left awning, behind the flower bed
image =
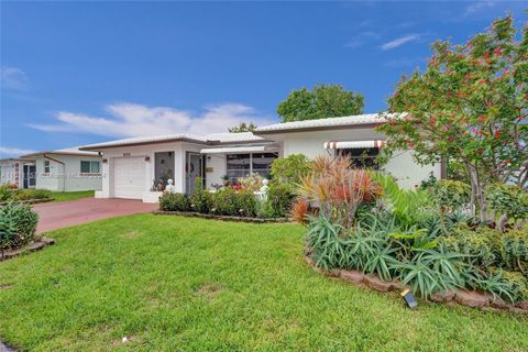
[[[276,153],[228,154],[227,174],[231,182],[239,177],[248,177],[253,173],[266,176],[276,157]]]

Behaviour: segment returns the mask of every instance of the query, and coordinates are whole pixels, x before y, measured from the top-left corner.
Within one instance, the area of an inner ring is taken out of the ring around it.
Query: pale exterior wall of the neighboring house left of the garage
[[[77,156],[50,154],[50,157],[64,163],[45,158],[43,155],[35,157],[36,185],[35,188],[53,191],[100,190],[101,176],[81,175],[80,162],[101,162],[99,156]],[[44,173],[44,161],[50,161],[50,173]],[[101,164],[102,166],[102,164]]]

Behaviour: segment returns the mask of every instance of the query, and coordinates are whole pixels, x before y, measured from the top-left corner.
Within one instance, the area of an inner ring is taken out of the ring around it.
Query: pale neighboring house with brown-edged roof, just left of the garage
[[[100,190],[101,157],[77,147],[22,155],[34,160],[35,188],[54,191]]]

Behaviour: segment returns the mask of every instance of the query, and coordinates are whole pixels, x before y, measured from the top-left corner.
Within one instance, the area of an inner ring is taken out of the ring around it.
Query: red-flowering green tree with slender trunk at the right
[[[464,45],[438,41],[425,73],[404,77],[389,98],[386,153],[413,148],[421,164],[464,165],[472,209],[487,221],[485,184],[528,187],[528,26],[510,16]]]

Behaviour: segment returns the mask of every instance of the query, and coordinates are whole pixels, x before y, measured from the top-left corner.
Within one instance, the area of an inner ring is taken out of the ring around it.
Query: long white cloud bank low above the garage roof
[[[46,132],[74,132],[132,138],[169,133],[209,134],[228,132],[240,122],[256,125],[273,123],[268,116],[258,114],[253,108],[240,103],[208,106],[199,114],[168,107],[146,107],[138,103],[116,103],[105,108],[107,117],[61,111],[58,123],[30,124]]]

